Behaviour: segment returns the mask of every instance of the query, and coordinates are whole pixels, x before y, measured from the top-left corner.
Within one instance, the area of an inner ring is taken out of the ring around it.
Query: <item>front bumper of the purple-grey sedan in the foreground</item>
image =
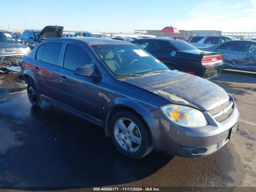
[[[230,97],[230,100],[233,100]],[[208,112],[203,112],[207,126],[186,128],[171,122],[158,108],[144,116],[150,128],[154,150],[168,154],[196,157],[212,154],[224,146],[236,131],[239,112],[236,104],[232,114],[217,122]]]

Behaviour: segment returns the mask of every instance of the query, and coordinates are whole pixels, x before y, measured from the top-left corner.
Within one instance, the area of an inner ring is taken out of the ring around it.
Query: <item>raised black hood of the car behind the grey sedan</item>
[[[62,26],[46,26],[40,32],[38,39],[60,38],[63,34],[63,28]]]

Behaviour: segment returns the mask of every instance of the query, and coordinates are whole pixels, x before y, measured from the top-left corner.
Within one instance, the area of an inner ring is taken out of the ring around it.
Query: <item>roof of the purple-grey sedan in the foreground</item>
[[[126,41],[114,40],[114,39],[104,39],[104,38],[94,38],[94,37],[73,37],[73,38],[51,38],[45,40],[44,42],[51,42],[56,40],[67,40],[72,42],[82,42],[87,45],[104,45],[104,44],[132,44]]]

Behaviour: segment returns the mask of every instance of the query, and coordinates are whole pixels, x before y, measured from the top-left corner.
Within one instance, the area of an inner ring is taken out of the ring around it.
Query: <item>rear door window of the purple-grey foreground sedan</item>
[[[44,50],[41,60],[50,64],[58,65],[61,48],[62,43],[44,44]]]

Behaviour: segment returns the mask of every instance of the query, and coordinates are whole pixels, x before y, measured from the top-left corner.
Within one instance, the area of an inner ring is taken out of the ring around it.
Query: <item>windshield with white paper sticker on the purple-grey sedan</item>
[[[93,45],[92,48],[115,77],[169,70],[162,62],[136,45],[104,44]]]

